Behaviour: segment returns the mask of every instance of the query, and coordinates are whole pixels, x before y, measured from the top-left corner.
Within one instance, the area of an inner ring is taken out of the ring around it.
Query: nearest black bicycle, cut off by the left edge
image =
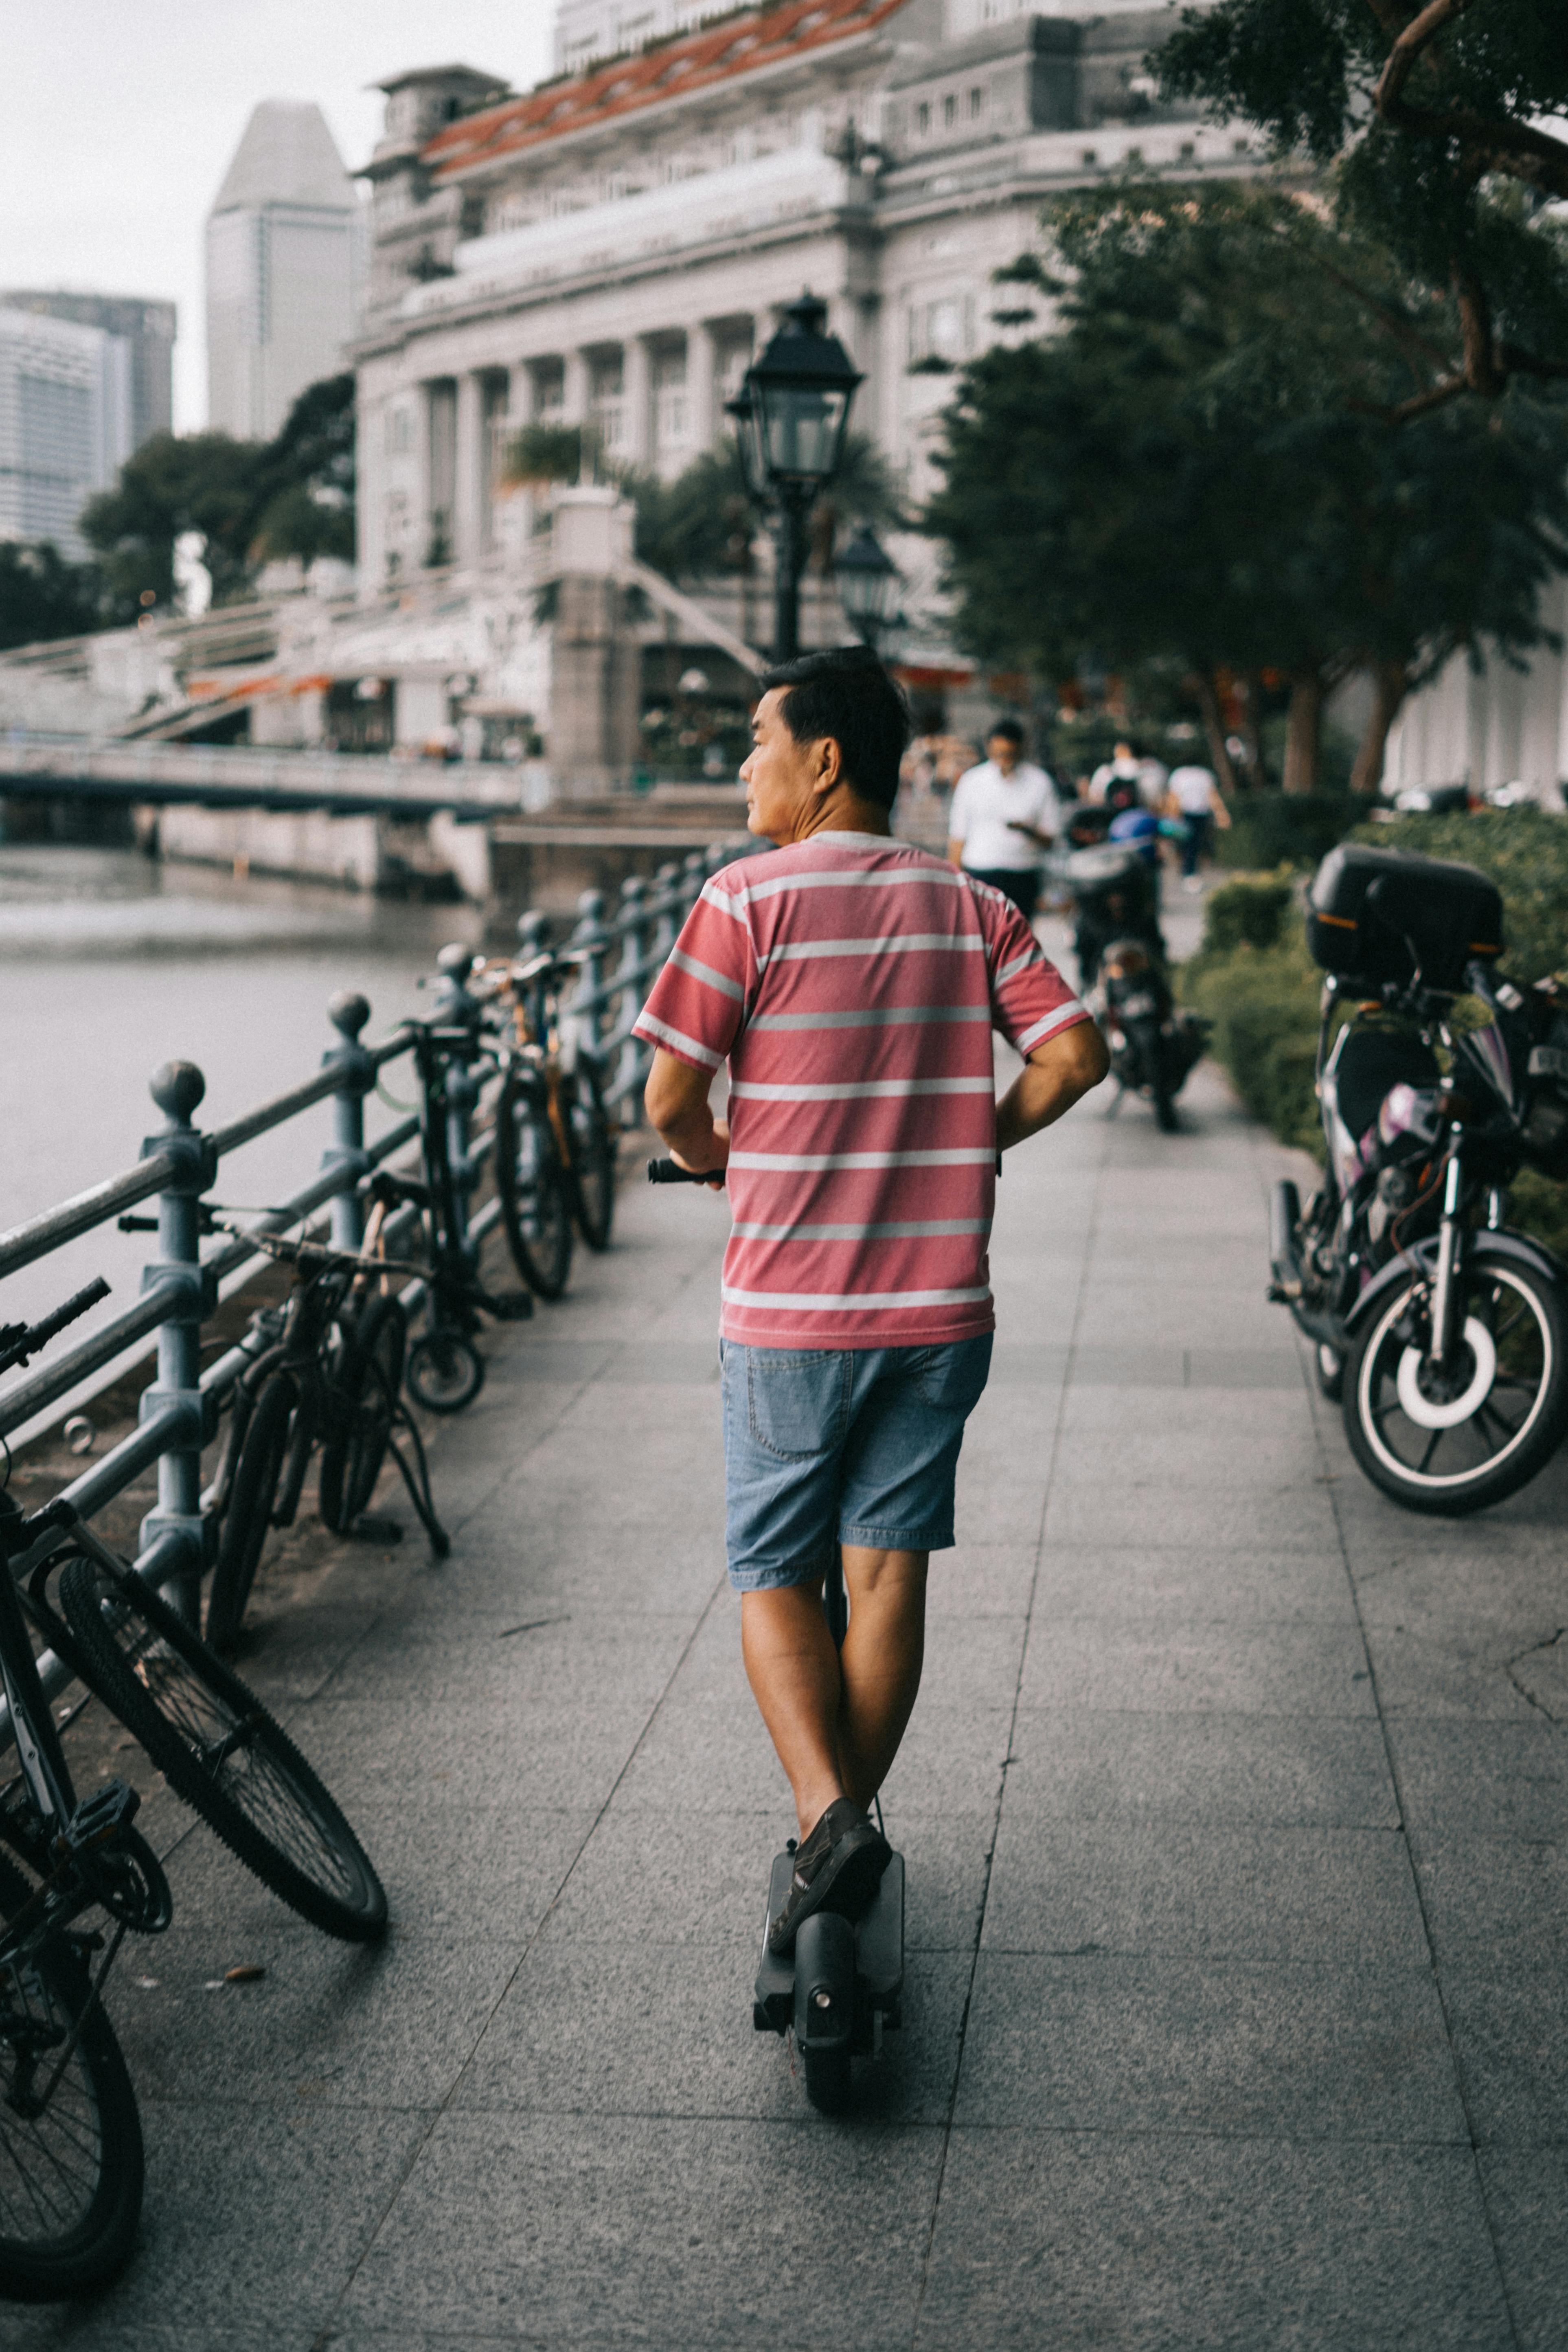
[[[0,1329],[0,1371],[106,1291],[94,1282],[42,1324]],[[141,2124],[103,1980],[122,1936],[165,1929],[172,1900],[134,1828],[136,1790],[113,1778],[78,1799],[35,1646],[301,1917],[369,1943],[386,1929],[386,1893],[254,1691],[63,1496],[24,1512],[0,1491],[0,1682],[19,1764],[0,1790],[0,2291],[52,2300],[106,2286],[132,2251]],[[80,1924],[94,1910],[108,1929]]]

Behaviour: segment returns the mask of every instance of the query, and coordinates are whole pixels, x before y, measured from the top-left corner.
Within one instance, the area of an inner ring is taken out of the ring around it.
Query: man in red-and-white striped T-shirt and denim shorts
[[[649,1122],[726,1183],[726,1545],[799,1844],[769,1950],[856,1919],[919,1689],[992,1350],[997,1155],[1105,1077],[1098,1028],[1001,891],[896,842],[903,694],[863,647],[771,670],[741,776],[771,854],[708,882],[637,1021]],[[994,1098],[992,1030],[1023,1054]],[[729,1117],[708,1091],[729,1061]],[[842,1552],[849,1628],[823,1616]]]

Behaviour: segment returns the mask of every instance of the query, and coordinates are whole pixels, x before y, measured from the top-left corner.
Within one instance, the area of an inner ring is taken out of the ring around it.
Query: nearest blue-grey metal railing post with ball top
[[[172,1581],[174,1606],[188,1625],[202,1611],[202,1446],[216,1430],[219,1399],[202,1397],[202,1317],[212,1315],[216,1289],[202,1272],[202,1232],[197,1202],[212,1188],[216,1155],[212,1138],[197,1134],[190,1112],[207,1094],[207,1080],[193,1061],[165,1061],[153,1070],[150,1094],[165,1112],[165,1131],[148,1136],[141,1157],[174,1152],[176,1171],[158,1195],[158,1261],[141,1275],[143,1291],[169,1291],[172,1315],[158,1327],[158,1381],[143,1390],[139,1421],[150,1421],[169,1406],[181,1409],[181,1423],[158,1456],[158,1510],[141,1522],[139,1550],[174,1536],[186,1550],[186,1566]]]

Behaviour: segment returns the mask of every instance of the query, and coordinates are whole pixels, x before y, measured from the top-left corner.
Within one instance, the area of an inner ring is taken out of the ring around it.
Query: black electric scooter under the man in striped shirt
[[[675,1160],[649,1160],[649,1183],[712,1183]],[[823,1581],[823,1611],[842,1646],[849,1628],[844,1564],[835,1555]],[[877,1828],[882,1806],[877,1804]],[[903,2025],[903,1853],[889,1858],[870,1910],[860,1919],[813,1912],[795,1936],[792,1952],[769,1952],[769,1919],[790,1896],[795,1849],[773,1856],[769,1903],[762,1915],[762,1957],[752,1997],[759,2034],[795,2037],[806,2098],[820,2114],[844,2114],[851,2098],[851,2060],[882,2058],[882,2037]]]

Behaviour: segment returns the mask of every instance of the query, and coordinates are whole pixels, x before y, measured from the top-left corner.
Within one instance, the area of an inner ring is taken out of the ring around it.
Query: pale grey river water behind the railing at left
[[[435,950],[477,934],[477,908],[235,880],[129,849],[0,847],[0,1228],[139,1157],[143,1136],[162,1127],[148,1096],[160,1063],[197,1063],[207,1077],[197,1124],[221,1127],[320,1065],[336,1042],[327,1021],[336,990],[369,997],[364,1037],[374,1042],[428,1009],[416,983],[435,971]],[[411,1103],[407,1061],[393,1063],[383,1084]],[[371,1096],[367,1134],[400,1115]],[[223,1160],[216,1197],[261,1207],[299,1190],[320,1167],[329,1129],[331,1105],[320,1103],[259,1136]],[[0,1322],[35,1319],[101,1272],[115,1296],[82,1319],[85,1336],[134,1303],[153,1254],[148,1235],[122,1235],[113,1223],[82,1235],[5,1279]]]

